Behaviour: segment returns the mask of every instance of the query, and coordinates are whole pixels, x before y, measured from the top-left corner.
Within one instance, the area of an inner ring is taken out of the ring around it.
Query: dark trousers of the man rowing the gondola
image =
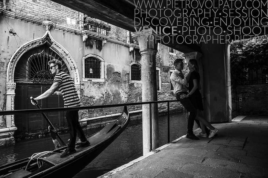
[[[65,117],[70,134],[70,141],[67,148],[73,149],[75,148],[76,135],[78,135],[82,142],[87,141],[87,138],[85,137],[83,128],[78,121],[78,110],[66,111]]]

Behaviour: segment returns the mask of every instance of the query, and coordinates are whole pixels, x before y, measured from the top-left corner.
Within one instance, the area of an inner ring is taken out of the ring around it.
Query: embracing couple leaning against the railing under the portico
[[[194,59],[190,59],[188,62],[188,68],[190,72],[184,78],[183,73],[183,59],[178,58],[174,61],[175,71],[172,72],[170,76],[171,83],[174,88],[174,94],[176,95],[176,99],[181,102],[185,109],[189,112],[188,118],[188,126],[187,126],[187,136],[186,138],[192,140],[198,140],[200,137],[207,137],[209,133],[209,138],[213,137],[218,129],[214,128],[202,115],[203,102],[202,95],[199,92],[201,89],[200,85],[200,75],[198,73],[198,63]],[[186,84],[189,84],[189,93],[187,92]],[[194,121],[199,125],[202,129],[202,132],[195,136],[193,134],[193,124]],[[207,127],[210,128],[210,132]]]

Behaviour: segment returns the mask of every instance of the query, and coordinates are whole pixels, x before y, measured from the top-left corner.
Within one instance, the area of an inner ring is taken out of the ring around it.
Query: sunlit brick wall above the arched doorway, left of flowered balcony
[[[79,12],[49,0],[7,0],[6,10],[79,30]]]

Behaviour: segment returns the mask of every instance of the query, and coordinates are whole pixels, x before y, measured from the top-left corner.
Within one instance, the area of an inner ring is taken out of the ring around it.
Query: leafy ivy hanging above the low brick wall
[[[257,76],[257,81],[268,84],[267,35],[233,41],[230,45],[230,63],[231,79],[238,85],[250,84],[248,81],[254,79],[252,73]]]

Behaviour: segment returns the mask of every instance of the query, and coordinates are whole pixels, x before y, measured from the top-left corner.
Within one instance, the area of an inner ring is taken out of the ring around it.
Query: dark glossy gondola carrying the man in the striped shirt
[[[121,116],[116,121],[87,137],[91,143],[88,147],[76,149],[74,154],[60,158],[61,153],[67,147],[65,145],[36,156],[32,160],[28,157],[2,165],[0,178],[73,177],[107,148],[124,131],[128,122],[129,112],[127,106],[124,106]]]

